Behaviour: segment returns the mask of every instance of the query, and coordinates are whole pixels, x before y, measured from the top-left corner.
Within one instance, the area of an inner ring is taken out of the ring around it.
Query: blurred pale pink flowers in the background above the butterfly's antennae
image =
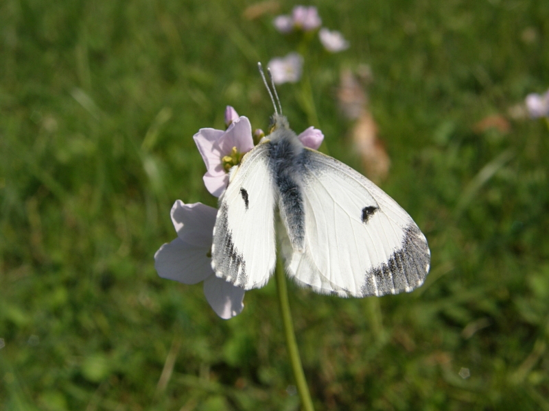
[[[318,16],[316,7],[296,5],[291,15],[277,16],[274,18],[273,24],[279,32],[284,34],[294,31],[312,32],[322,25],[322,19]],[[349,48],[349,42],[337,30],[322,27],[318,31],[318,38],[330,53],[337,53]],[[292,52],[285,57],[273,58],[268,63],[268,67],[275,84],[295,83],[301,78],[303,57],[299,53]]]

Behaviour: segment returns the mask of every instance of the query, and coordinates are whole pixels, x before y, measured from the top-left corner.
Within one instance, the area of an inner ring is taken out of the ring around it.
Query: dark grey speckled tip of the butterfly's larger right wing
[[[423,284],[429,271],[430,251],[417,225],[406,228],[401,247],[386,262],[366,272],[361,292],[369,295],[397,294]]]

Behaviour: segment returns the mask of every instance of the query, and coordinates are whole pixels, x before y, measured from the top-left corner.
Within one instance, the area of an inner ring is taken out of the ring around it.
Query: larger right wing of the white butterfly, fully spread
[[[338,160],[311,149],[300,157],[305,250],[283,248],[290,275],[318,292],[353,297],[420,286],[430,251],[408,213]]]

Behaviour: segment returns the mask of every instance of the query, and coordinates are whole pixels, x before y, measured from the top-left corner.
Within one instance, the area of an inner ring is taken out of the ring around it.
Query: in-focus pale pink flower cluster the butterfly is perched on
[[[203,128],[194,135],[196,147],[206,164],[204,184],[215,197],[220,197],[229,182],[229,170],[240,164],[244,155],[264,136],[261,129],[252,134],[247,117],[239,116],[230,105],[225,110],[226,130]],[[319,129],[307,128],[299,140],[318,149],[324,139]],[[217,210],[202,203],[185,204],[177,200],[172,207],[172,223],[177,238],[164,244],[154,254],[154,267],[163,278],[183,284],[204,282],[204,294],[211,308],[222,319],[242,312],[244,290],[218,278],[211,269],[211,243]]]

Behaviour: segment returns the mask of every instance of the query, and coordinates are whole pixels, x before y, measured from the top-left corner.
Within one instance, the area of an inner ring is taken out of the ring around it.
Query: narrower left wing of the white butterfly
[[[274,270],[275,191],[268,145],[259,144],[231,170],[213,229],[215,275],[245,290],[264,286]]]

